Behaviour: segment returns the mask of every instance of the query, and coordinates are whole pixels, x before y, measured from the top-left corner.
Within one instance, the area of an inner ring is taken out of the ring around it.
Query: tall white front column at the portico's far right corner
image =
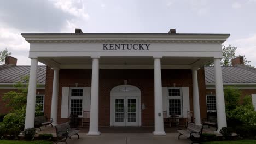
[[[220,58],[214,58],[216,111],[218,123],[217,131],[220,131],[222,127],[226,127],[225,99],[223,92],[222,67],[220,66],[220,60]]]

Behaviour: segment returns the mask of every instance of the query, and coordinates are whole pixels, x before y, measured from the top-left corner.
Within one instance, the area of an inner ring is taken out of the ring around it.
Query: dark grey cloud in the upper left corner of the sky
[[[1,1],[1,25],[19,29],[22,32],[59,32],[74,16],[65,13],[49,1]]]

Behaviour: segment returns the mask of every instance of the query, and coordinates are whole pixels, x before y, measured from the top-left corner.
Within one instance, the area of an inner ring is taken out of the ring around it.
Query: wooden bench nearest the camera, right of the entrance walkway
[[[179,137],[183,135],[188,139],[190,139],[192,143],[195,143],[195,142],[200,143],[201,137],[202,137],[202,130],[203,130],[203,126],[196,125],[194,123],[189,122],[186,130],[178,130],[178,132],[179,132]]]

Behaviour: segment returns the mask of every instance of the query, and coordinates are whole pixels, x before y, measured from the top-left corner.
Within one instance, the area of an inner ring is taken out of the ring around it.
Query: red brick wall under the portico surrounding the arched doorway
[[[48,75],[48,74],[47,74]],[[51,74],[52,76],[52,74]],[[52,83],[52,78],[50,79]],[[141,89],[141,100],[146,109],[142,110],[142,125],[154,125],[154,70],[132,69],[101,69],[100,70],[100,111],[99,124],[108,126],[110,123],[110,91],[113,87],[127,84]],[[47,82],[48,83],[48,82]],[[50,82],[49,82],[50,83]],[[66,118],[60,118],[62,87],[90,87],[91,69],[61,69],[59,80],[59,105],[58,123],[66,122]],[[162,70],[162,86],[189,87],[190,109],[193,110],[191,70]],[[50,86],[50,85],[49,85]],[[48,87],[48,84],[46,84]],[[50,90],[49,90],[50,91]],[[46,90],[46,95],[48,90]],[[50,95],[50,94],[49,94]],[[50,97],[49,97],[50,98]]]

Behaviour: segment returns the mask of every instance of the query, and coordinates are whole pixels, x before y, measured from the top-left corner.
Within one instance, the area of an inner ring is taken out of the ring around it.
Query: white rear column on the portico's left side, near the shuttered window
[[[55,69],[54,79],[53,79],[53,94],[51,95],[51,118],[53,118],[53,125],[57,125],[58,94],[59,94],[59,69]]]

